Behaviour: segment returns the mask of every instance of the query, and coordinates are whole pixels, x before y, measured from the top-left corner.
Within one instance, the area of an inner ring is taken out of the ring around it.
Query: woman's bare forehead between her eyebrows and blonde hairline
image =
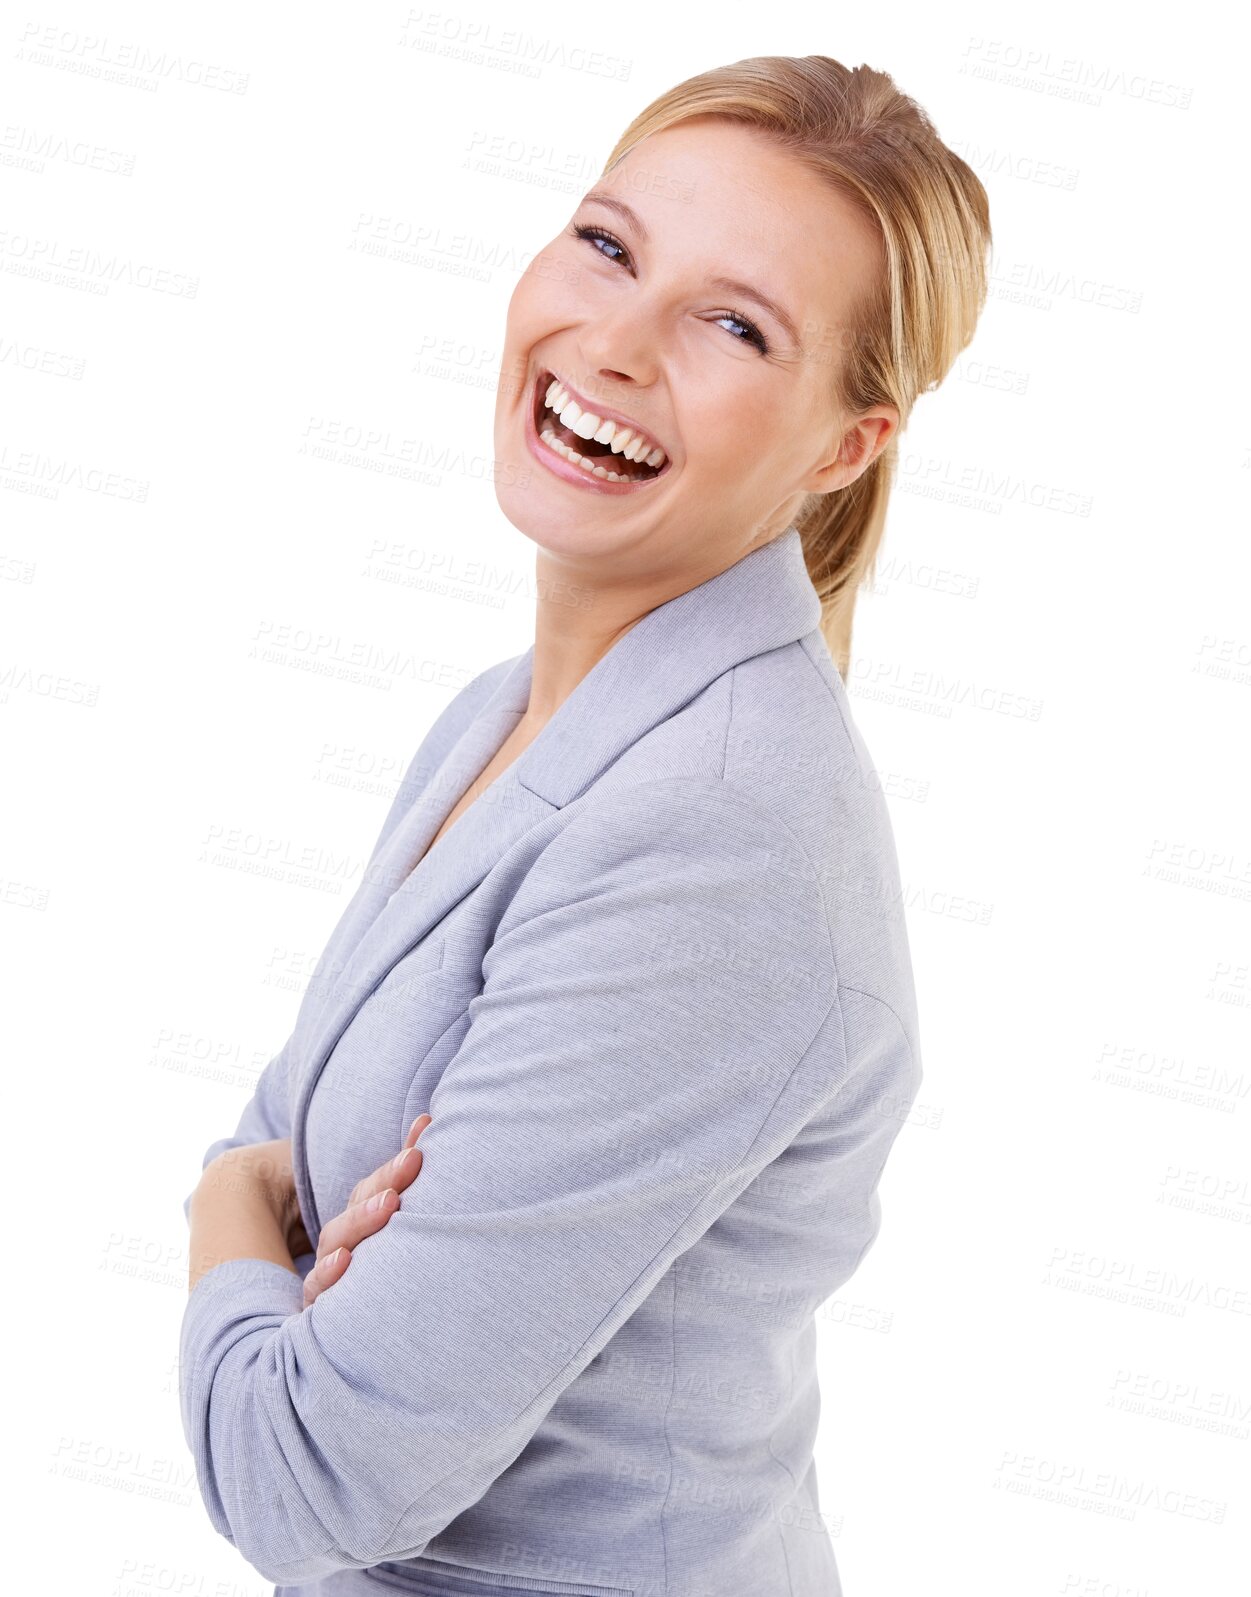
[[[842,319],[879,265],[877,228],[847,195],[724,117],[650,134],[593,187],[637,212],[652,259],[749,281],[800,326]]]

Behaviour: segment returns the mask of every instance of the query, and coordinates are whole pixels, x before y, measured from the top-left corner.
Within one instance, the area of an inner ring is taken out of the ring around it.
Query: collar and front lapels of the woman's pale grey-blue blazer
[[[642,616],[422,858],[529,704],[534,647],[518,658],[371,861],[313,973],[312,984],[324,997],[312,1009],[292,1105],[296,1183],[313,1246],[321,1222],[304,1158],[304,1123],[316,1080],[361,1003],[526,832],[583,794],[631,744],[732,666],[805,637],[820,620],[821,600],[799,532],[788,527]]]

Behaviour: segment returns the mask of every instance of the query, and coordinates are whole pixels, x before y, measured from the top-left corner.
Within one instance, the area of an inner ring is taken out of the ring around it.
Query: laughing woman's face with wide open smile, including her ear
[[[842,195],[753,129],[700,117],[644,139],[508,305],[505,516],[583,573],[698,578],[770,541],[898,425],[836,399],[879,251]]]

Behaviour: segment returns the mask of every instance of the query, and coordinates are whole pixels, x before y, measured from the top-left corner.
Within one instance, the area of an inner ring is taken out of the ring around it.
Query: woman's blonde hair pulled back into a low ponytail
[[[855,310],[836,372],[842,409],[893,404],[900,428],[855,482],[810,493],[794,525],[821,599],[821,632],[847,677],[860,588],[874,575],[898,439],[936,388],[986,303],[991,217],[973,169],[885,72],[829,56],[754,56],[668,89],[617,141],[604,172],[649,134],[725,117],[773,137],[876,227],[885,270]]]

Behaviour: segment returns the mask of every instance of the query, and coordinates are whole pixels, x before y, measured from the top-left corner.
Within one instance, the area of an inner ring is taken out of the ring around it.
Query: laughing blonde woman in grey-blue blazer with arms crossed
[[[518,284],[534,645],[435,722],[187,1199],[187,1439],[281,1592],[839,1592],[813,1316],[920,1070],[840,672],[987,244],[890,78],[765,57]]]

